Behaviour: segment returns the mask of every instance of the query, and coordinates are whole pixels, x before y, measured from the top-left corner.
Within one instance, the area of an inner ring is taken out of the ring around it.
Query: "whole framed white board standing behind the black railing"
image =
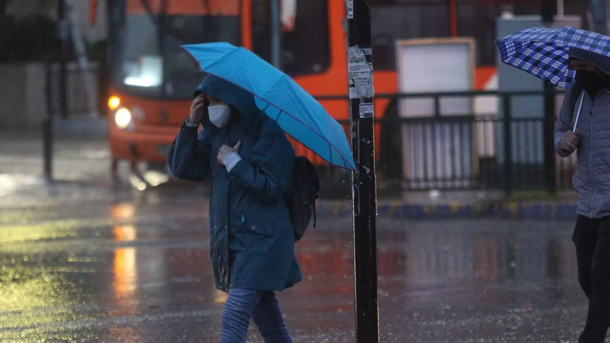
[[[474,88],[472,38],[429,38],[397,42],[400,93],[468,92]],[[401,118],[436,115],[434,98],[402,98]],[[439,99],[439,115],[473,115],[473,98]],[[476,173],[476,140],[467,122],[432,120],[401,125],[404,177],[422,189],[470,187]]]

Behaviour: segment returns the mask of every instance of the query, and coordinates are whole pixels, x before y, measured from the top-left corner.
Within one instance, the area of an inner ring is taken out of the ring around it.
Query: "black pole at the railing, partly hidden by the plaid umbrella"
[[[542,22],[551,27],[553,24],[554,0],[541,0]],[[549,193],[557,191],[555,180],[555,148],[554,148],[554,125],[555,125],[555,89],[550,82],[544,83],[544,180],[545,189]]]

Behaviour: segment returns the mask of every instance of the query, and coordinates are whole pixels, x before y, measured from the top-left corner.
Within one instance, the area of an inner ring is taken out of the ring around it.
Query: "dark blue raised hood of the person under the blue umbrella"
[[[206,76],[199,87],[197,87],[195,96],[199,95],[199,93],[206,93],[235,107],[246,126],[253,125],[262,112],[256,106],[252,93],[217,76]]]

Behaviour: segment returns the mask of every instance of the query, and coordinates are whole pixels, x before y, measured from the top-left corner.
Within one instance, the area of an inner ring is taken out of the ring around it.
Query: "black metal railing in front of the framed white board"
[[[563,95],[554,93],[556,103]],[[384,110],[379,104],[389,101],[390,108],[376,121],[379,181],[402,190],[570,188],[576,154],[545,159],[544,128],[554,123],[545,120],[543,96],[542,91],[376,95],[378,117]],[[492,110],[458,109],[475,107],[475,99],[488,101]],[[340,123],[349,132],[350,121]]]

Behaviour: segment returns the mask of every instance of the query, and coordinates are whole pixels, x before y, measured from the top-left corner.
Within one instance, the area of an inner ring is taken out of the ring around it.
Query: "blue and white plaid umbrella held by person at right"
[[[569,68],[568,50],[579,48],[610,57],[610,37],[564,27],[532,27],[498,40],[503,63],[527,71],[544,81],[568,88],[575,71]]]

